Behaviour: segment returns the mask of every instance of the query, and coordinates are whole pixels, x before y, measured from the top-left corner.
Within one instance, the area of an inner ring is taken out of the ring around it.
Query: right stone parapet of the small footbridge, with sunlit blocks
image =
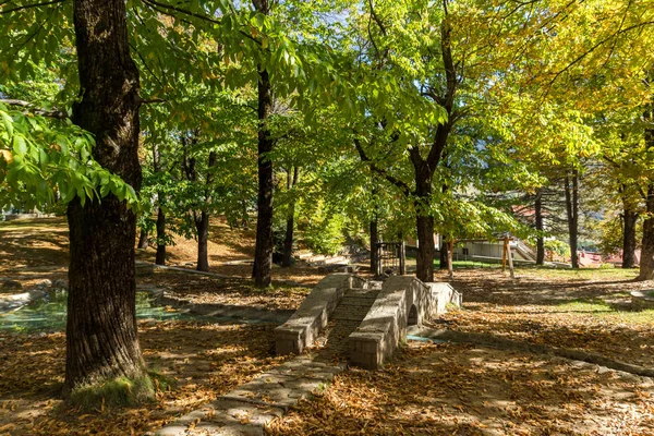
[[[438,284],[436,292],[446,293],[440,283],[433,284]],[[409,322],[422,324],[436,313],[433,292],[415,277],[386,280],[361,326],[348,338],[350,362],[370,370],[384,365],[407,337]]]

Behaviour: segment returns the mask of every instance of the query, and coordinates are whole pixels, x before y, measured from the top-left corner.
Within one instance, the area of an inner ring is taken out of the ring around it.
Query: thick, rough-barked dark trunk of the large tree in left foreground
[[[130,56],[125,3],[75,0],[75,45],[81,99],[73,122],[94,134],[94,158],[136,191],[138,71]],[[136,334],[134,239],[136,216],[109,194],[73,199],[64,392],[124,376],[144,376]]]

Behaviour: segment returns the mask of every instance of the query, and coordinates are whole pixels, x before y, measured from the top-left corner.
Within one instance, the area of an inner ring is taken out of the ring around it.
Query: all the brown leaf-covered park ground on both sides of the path
[[[253,233],[211,226],[211,271],[222,279],[156,271],[143,286],[196,304],[295,308],[324,275],[316,267],[275,268],[270,290],[249,279]],[[194,261],[178,240],[172,263]],[[154,259],[154,250],[138,253]],[[237,262],[237,265],[233,263]],[[23,289],[65,279],[68,239],[61,219],[0,223],[0,277]],[[229,264],[229,265],[226,265]],[[457,269],[462,310],[432,324],[552,346],[654,367],[654,312],[632,312],[634,270]],[[446,280],[438,275],[437,280]],[[17,291],[0,290],[0,294]],[[7,296],[7,295],[4,295]],[[140,322],[148,365],[165,376],[157,399],[132,408],[63,403],[65,338],[61,331],[0,330],[0,434],[142,435],[252,379],[284,358],[271,354],[272,325],[190,320]],[[383,370],[351,368],[269,425],[272,435],[654,435],[654,383],[550,354],[473,344],[409,341]]]

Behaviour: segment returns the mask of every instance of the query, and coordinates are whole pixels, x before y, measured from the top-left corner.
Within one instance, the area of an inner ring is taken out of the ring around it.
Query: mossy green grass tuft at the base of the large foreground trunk
[[[164,377],[161,377],[162,379]],[[136,378],[118,377],[99,384],[80,386],[71,392],[70,401],[83,410],[98,407],[137,405],[155,398],[155,386],[161,384],[159,378],[144,375]]]

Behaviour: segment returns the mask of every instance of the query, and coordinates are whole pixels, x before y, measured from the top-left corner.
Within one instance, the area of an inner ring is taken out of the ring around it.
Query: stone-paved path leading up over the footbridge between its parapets
[[[193,411],[156,434],[263,435],[264,427],[300,399],[323,389],[347,368],[348,336],[367,314],[376,289],[351,289],[337,305],[330,326],[317,341],[316,353],[302,354],[269,370],[234,390]]]

